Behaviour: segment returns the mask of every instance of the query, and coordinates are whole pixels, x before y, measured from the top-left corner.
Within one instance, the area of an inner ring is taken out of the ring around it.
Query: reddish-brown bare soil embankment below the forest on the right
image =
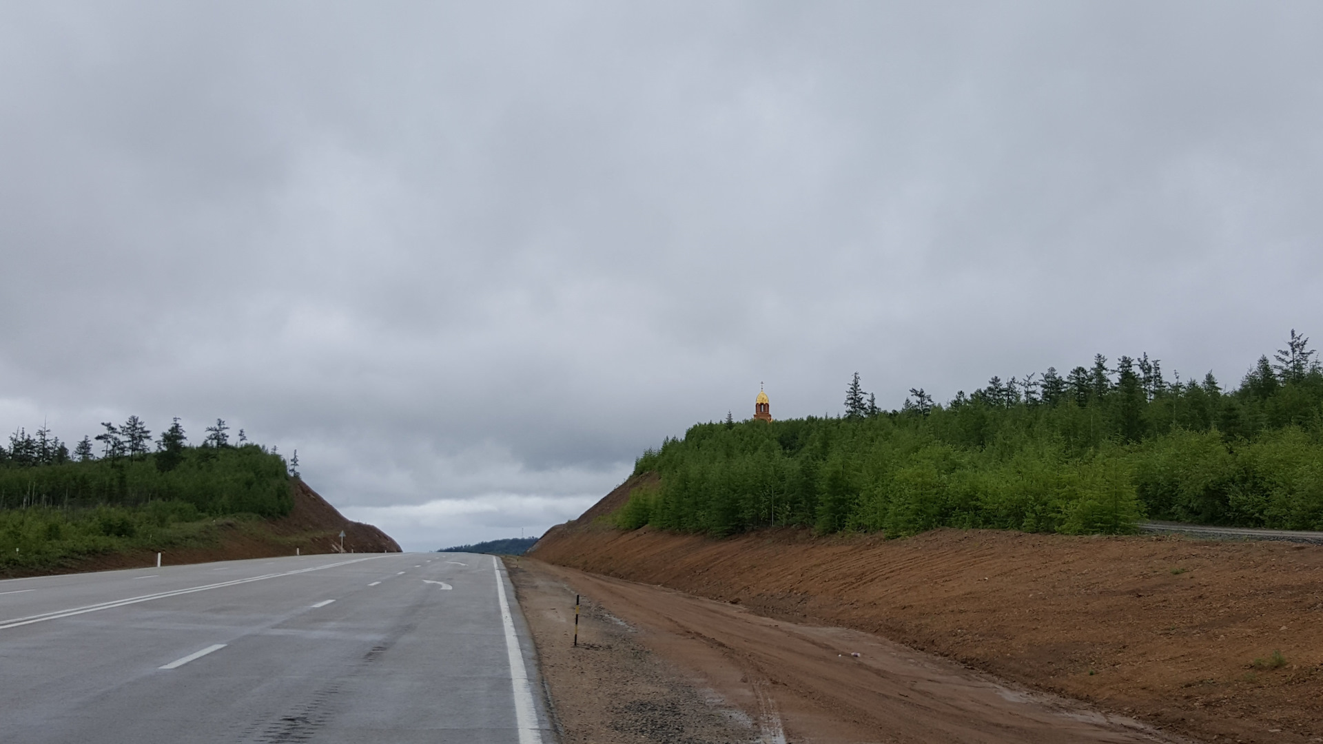
[[[570,523],[532,556],[872,633],[1168,733],[1323,741],[1318,545],[957,530],[713,540]]]

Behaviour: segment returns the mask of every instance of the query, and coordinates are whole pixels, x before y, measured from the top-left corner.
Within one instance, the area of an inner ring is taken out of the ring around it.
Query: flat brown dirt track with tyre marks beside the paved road
[[[763,741],[820,744],[855,741],[905,743],[1056,743],[1167,741],[1122,716],[1106,716],[1080,703],[1035,694],[913,651],[876,635],[840,628],[815,628],[759,617],[738,605],[691,597],[679,592],[594,576],[574,569],[524,561],[525,577],[542,585],[560,580],[636,629],[636,643],[676,667],[697,675],[704,686],[738,706],[758,723]],[[529,601],[521,589],[520,601]],[[553,594],[554,596],[554,594]],[[533,600],[536,601],[536,600]],[[570,604],[562,592],[562,605]],[[525,608],[534,625],[548,625],[544,612]],[[554,628],[554,621],[550,622]],[[566,624],[561,624],[568,629]],[[597,635],[597,630],[590,631]],[[538,650],[548,641],[538,637]],[[561,655],[572,655],[568,635],[549,634]],[[593,638],[587,641],[597,641]],[[554,651],[553,651],[554,653]],[[579,650],[578,657],[594,655]],[[853,654],[859,654],[855,657]],[[544,662],[544,667],[548,665]],[[617,665],[619,666],[619,663]],[[554,670],[552,670],[554,675]],[[620,670],[617,670],[620,674]],[[566,684],[566,682],[570,682]],[[558,684],[557,684],[558,683]],[[553,695],[565,700],[577,691],[573,679],[553,679]],[[560,688],[560,694],[558,692]],[[607,700],[619,683],[587,686],[597,708],[619,708]],[[578,690],[582,695],[582,690]],[[578,707],[568,711],[572,729]],[[564,714],[562,714],[564,715]],[[689,712],[692,715],[692,712]],[[676,724],[687,716],[677,715]],[[613,737],[570,736],[570,741],[618,741]],[[627,741],[709,741],[713,739],[647,737]]]

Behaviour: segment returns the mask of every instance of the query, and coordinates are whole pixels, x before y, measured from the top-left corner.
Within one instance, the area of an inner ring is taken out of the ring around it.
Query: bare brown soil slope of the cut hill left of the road
[[[169,565],[210,563],[340,552],[340,532],[344,531],[344,552],[380,553],[400,552],[400,545],[389,535],[372,524],[349,522],[303,481],[290,485],[294,508],[287,516],[271,520],[242,522],[220,519],[216,540],[209,545],[189,545],[169,549],[164,560]],[[49,573],[83,573],[87,571],[114,571],[156,564],[153,551],[124,551],[70,560],[49,571],[12,571],[5,579]]]

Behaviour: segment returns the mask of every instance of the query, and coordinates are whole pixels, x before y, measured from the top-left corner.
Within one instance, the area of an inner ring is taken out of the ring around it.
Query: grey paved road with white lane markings
[[[550,743],[534,658],[492,556],[0,581],[0,740]]]

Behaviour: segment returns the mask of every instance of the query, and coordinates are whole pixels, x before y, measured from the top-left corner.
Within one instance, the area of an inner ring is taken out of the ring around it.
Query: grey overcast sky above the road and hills
[[[406,548],[695,421],[1323,340],[1323,4],[5,3],[0,426],[295,447]]]

